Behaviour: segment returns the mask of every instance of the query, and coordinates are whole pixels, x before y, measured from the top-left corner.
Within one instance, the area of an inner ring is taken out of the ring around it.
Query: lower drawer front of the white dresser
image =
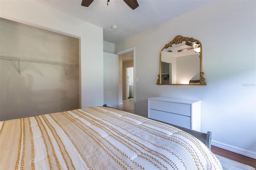
[[[149,109],[148,117],[158,121],[191,129],[191,119],[187,116]]]

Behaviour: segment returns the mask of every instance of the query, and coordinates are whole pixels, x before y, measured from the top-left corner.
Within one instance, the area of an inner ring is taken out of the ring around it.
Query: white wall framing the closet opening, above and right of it
[[[0,1],[0,17],[80,38],[80,107],[103,105],[103,29],[34,1]]]

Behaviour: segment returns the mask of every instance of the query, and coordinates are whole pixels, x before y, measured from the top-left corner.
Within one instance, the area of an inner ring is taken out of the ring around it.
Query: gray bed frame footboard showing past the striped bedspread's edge
[[[107,106],[106,104],[103,105],[103,107],[109,107]],[[116,108],[113,108],[113,107],[110,107],[112,109],[116,109]],[[117,110],[120,110],[120,109],[117,109]],[[146,117],[148,118],[148,117]],[[148,119],[151,119],[151,118],[148,118]],[[152,119],[152,120],[155,120],[155,119]],[[158,120],[155,120],[155,121],[158,121]],[[162,122],[162,121],[158,121],[158,122]],[[166,123],[166,122],[162,122],[162,123]],[[168,125],[172,125],[170,123],[166,123]],[[185,132],[193,135],[194,137],[198,138],[199,140],[201,140],[204,144],[206,144],[206,146],[211,150],[212,149],[212,132],[207,132],[207,133],[203,133],[203,132],[198,132],[196,130],[191,130],[189,128],[184,128],[184,127],[180,127],[180,126],[177,126],[177,125],[172,125],[174,127],[177,127],[181,130],[184,130]]]

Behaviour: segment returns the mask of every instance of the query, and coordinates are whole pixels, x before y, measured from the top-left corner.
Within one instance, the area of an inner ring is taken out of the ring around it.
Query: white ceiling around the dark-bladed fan
[[[123,0],[94,0],[89,7],[82,0],[35,0],[44,6],[80,18],[103,28],[103,40],[115,43],[154,28],[168,20],[210,4],[214,0],[137,0],[132,10]],[[112,26],[118,26],[113,30]]]

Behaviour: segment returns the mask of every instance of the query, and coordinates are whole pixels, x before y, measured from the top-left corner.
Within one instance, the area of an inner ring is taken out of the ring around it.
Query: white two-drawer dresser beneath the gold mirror
[[[148,98],[148,117],[201,132],[201,101],[174,97]]]

